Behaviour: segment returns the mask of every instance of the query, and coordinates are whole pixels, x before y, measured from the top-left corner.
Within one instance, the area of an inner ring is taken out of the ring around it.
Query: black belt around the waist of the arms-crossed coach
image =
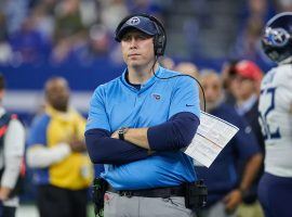
[[[185,196],[184,186],[167,187],[157,189],[142,189],[142,190],[115,190],[109,186],[109,192],[118,193],[120,196],[142,196],[142,197],[162,197],[168,199],[170,196]]]

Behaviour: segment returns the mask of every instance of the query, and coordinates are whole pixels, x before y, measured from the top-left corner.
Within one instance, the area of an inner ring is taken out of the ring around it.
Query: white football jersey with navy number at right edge
[[[292,65],[270,69],[261,85],[260,124],[265,137],[265,171],[292,177]]]

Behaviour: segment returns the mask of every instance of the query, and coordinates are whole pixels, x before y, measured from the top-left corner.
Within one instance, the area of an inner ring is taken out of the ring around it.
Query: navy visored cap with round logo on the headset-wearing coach
[[[149,17],[145,16],[132,16],[121,25],[122,26],[120,28],[118,26],[115,37],[115,39],[119,42],[121,41],[123,35],[127,34],[130,29],[137,29],[149,36],[159,34],[155,23]]]

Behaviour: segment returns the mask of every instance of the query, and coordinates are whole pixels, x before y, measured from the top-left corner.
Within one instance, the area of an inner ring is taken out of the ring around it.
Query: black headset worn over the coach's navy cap
[[[164,54],[165,47],[167,47],[167,34],[163,25],[155,17],[145,13],[136,13],[136,14],[131,14],[125,16],[118,27],[116,28],[115,33],[115,39],[120,42],[120,39],[118,38],[118,34],[121,30],[121,27],[125,22],[128,22],[130,18],[135,17],[135,16],[143,16],[148,18],[154,25],[157,30],[157,34],[154,36],[154,50],[155,50],[155,55],[160,56]]]

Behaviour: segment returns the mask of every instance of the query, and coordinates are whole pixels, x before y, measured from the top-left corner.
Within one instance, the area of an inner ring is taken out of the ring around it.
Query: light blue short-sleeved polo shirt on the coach
[[[178,75],[163,67],[156,74],[159,77]],[[99,128],[114,132],[120,127],[151,127],[181,112],[200,115],[198,86],[194,79],[180,76],[162,80],[152,76],[137,90],[127,82],[124,71],[94,91],[87,130]],[[191,159],[182,151],[157,152],[145,159],[105,165],[101,177],[117,190],[170,187],[197,180]]]

